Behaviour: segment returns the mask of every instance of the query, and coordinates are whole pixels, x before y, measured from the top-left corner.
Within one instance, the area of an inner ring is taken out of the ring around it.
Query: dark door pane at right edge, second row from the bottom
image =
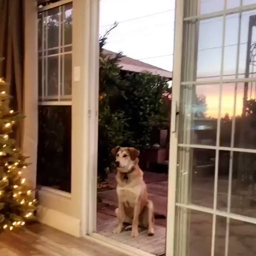
[[[256,154],[234,152],[231,213],[256,218]]]

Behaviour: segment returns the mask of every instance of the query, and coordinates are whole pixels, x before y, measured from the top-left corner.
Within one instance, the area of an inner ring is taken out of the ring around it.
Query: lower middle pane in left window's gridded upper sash
[[[58,98],[58,56],[48,57],[47,69],[47,96],[56,96]]]

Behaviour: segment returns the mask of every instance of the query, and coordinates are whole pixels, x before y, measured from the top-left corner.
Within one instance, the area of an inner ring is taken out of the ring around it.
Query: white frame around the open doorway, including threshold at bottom
[[[87,35],[90,40],[86,48],[87,71],[89,72],[89,128],[88,128],[88,168],[85,174],[85,185],[83,186],[83,218],[82,234],[85,238],[97,241],[105,246],[111,247],[126,255],[152,256],[152,254],[141,251],[132,246],[114,241],[96,233],[97,228],[97,156],[98,156],[98,89],[99,89],[99,1],[88,0],[86,23]],[[177,157],[177,129],[176,112],[180,99],[181,84],[181,57],[182,57],[182,31],[183,31],[183,4],[184,0],[176,0],[175,15],[175,46],[174,46],[174,76],[172,87],[172,117],[170,136],[170,161],[168,179],[168,210],[166,234],[166,256],[173,255],[174,239],[174,217],[175,217],[175,186],[176,186],[176,157]],[[90,54],[89,54],[90,53]]]

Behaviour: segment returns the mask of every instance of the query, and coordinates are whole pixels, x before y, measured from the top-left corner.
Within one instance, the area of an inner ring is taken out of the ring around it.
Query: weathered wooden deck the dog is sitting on
[[[144,173],[144,180],[147,183],[147,191],[150,199],[154,203],[155,211],[166,216],[167,211],[167,175],[160,173]],[[114,174],[109,175],[108,182],[110,190],[98,193],[102,202],[97,207],[97,231],[103,236],[109,237],[119,242],[139,248],[145,252],[155,255],[165,255],[166,243],[166,219],[156,219],[155,235],[147,236],[146,230],[140,230],[140,236],[130,237],[130,230],[122,231],[120,234],[113,234],[112,230],[116,227],[115,209],[117,208],[116,182]]]

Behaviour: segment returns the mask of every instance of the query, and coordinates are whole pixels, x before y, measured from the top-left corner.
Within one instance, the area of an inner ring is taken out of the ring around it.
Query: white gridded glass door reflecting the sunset
[[[167,253],[256,254],[256,1],[176,1]]]

